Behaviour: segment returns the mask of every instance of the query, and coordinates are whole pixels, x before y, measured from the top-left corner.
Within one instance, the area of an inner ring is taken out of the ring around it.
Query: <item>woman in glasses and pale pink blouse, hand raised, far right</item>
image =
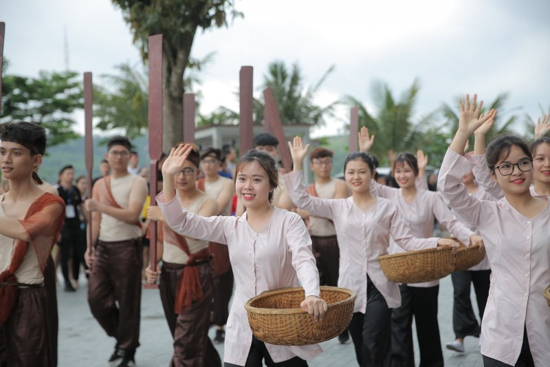
[[[533,196],[533,160],[516,136],[495,138],[485,159],[489,174],[504,193],[498,202],[468,195],[462,176],[475,166],[465,143],[493,109],[480,116],[483,102],[459,101],[459,128],[445,154],[439,189],[452,209],[483,235],[491,264],[489,298],[481,324],[485,367],[548,365],[550,312],[542,292],[550,284],[550,207],[548,197]]]

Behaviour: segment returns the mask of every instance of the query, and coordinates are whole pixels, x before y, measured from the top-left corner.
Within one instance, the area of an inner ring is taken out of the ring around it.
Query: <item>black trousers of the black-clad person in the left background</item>
[[[78,280],[80,272],[80,264],[84,263],[84,249],[82,243],[82,230],[80,224],[65,223],[61,230],[61,271],[65,284],[70,284],[69,281],[69,259],[72,259],[72,271],[74,280]]]

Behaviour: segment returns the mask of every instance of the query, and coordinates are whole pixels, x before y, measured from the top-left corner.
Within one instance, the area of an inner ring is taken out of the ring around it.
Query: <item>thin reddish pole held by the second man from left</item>
[[[92,171],[94,169],[94,136],[92,135],[91,119],[94,116],[94,85],[92,84],[91,72],[84,73],[84,154],[86,159],[86,173],[88,175],[88,192],[91,198]],[[91,216],[88,219],[89,229],[86,232],[87,241],[90,247],[94,246],[91,235]]]

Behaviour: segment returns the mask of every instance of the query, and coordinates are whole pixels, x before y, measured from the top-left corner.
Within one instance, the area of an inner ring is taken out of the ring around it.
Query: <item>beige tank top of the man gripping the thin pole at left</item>
[[[130,201],[130,191],[132,189],[133,180],[139,176],[128,174],[124,177],[114,178],[111,176],[111,192],[113,197],[120,207],[128,208]],[[103,185],[100,182],[101,185]],[[122,222],[105,213],[101,213],[101,222],[99,227],[99,240],[103,242],[116,242],[124,240],[132,240],[140,238],[142,235],[141,229],[135,224]]]

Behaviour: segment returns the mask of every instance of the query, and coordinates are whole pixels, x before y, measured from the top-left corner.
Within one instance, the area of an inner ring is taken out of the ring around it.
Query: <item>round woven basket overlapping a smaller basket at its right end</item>
[[[456,257],[450,247],[407,251],[378,257],[386,277],[395,283],[423,283],[454,271]]]

